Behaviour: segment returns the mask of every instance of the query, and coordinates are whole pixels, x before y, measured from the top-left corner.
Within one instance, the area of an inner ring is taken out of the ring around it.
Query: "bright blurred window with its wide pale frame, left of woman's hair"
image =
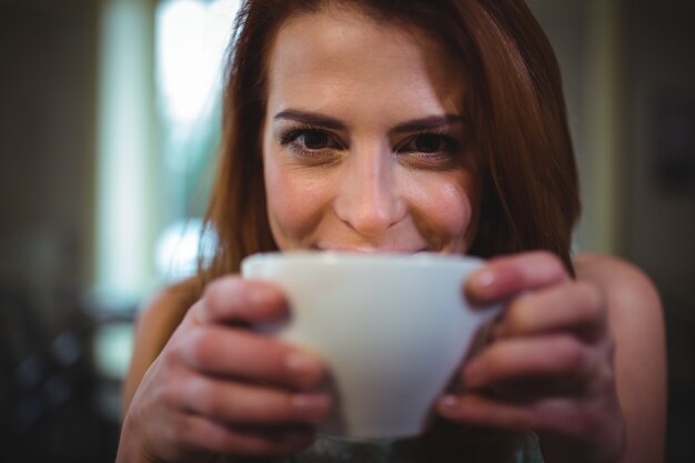
[[[104,0],[94,295],[132,310],[194,269],[239,0]]]

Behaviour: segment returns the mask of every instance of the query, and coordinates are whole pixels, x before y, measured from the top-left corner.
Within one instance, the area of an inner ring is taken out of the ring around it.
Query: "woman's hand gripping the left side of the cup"
[[[288,316],[274,285],[238,276],[208,285],[144,374],[123,421],[118,462],[279,455],[312,441],[329,411],[313,355],[249,325]]]

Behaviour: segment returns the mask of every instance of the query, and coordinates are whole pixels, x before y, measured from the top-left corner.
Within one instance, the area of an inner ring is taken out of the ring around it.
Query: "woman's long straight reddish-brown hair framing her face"
[[[471,254],[545,249],[572,271],[577,174],[555,56],[523,0],[246,0],[230,49],[220,164],[207,230],[216,235],[204,281],[276,250],[265,213],[261,131],[265,59],[290,17],[343,3],[433,36],[460,57],[483,160],[481,223]],[[464,78],[464,77],[462,77]]]

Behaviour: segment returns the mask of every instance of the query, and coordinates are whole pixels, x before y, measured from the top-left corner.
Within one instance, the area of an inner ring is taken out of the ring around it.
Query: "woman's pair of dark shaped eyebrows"
[[[348,128],[348,125],[340,119],[331,118],[329,115],[323,115],[311,111],[300,111],[294,109],[280,111],[273,117],[273,120],[280,119],[288,119],[309,125],[319,125],[333,130],[345,130]],[[470,121],[460,114],[436,114],[400,123],[389,130],[389,133],[409,133],[417,132],[421,130],[440,129],[442,127],[455,124],[466,125],[469,123]]]

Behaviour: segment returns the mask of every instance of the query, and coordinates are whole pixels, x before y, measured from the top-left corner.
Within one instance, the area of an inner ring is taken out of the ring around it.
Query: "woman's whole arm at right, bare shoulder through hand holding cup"
[[[506,311],[444,416],[535,431],[546,463],[662,461],[661,304],[639,271],[583,255],[572,280],[556,256],[528,252],[491,260],[466,293]]]

